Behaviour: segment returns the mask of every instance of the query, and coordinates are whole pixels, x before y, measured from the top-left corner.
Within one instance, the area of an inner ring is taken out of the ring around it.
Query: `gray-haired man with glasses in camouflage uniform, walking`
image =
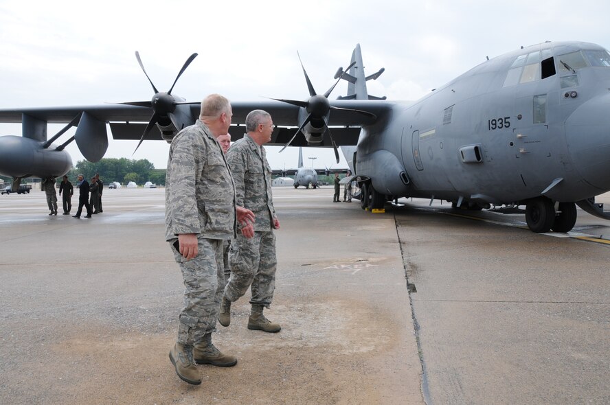
[[[248,329],[280,332],[280,325],[262,314],[269,308],[275,290],[275,234],[280,227],[275,216],[271,194],[271,167],[263,143],[271,140],[273,121],[266,111],[255,110],[246,117],[247,134],[234,142],[227,152],[227,161],[235,182],[237,204],[249,208],[256,216],[254,237],[247,240],[237,235],[229,249],[231,278],[225,287],[218,321],[223,326],[231,322],[231,302],[237,301],[251,287],[252,311]]]

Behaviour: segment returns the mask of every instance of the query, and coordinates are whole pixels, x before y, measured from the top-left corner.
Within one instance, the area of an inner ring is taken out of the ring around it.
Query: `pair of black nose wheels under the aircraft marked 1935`
[[[532,198],[526,205],[526,221],[534,232],[546,233],[551,229],[555,232],[569,232],[576,224],[576,204],[559,203],[555,210],[550,198]]]

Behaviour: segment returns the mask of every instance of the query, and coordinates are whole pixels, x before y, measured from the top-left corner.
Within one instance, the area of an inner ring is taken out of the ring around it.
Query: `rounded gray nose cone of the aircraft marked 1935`
[[[590,185],[610,189],[610,93],[585,102],[565,121],[576,170]]]

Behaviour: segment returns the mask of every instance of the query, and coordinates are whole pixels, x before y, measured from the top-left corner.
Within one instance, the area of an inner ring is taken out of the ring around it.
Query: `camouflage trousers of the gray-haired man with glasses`
[[[269,308],[277,264],[273,231],[257,231],[251,239],[238,234],[229,248],[231,278],[225,287],[225,297],[231,302],[237,301],[251,287],[250,303]]]

